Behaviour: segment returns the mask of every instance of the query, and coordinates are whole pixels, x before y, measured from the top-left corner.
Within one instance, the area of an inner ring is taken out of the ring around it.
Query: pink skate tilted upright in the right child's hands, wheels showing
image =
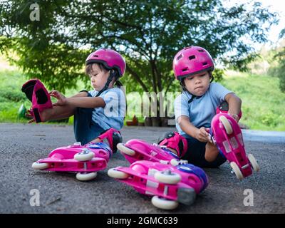
[[[241,115],[240,115],[241,116]],[[239,180],[252,175],[252,170],[259,171],[259,165],[252,154],[246,154],[242,130],[232,116],[219,113],[214,116],[211,123],[212,140],[219,147],[222,155],[227,158]]]

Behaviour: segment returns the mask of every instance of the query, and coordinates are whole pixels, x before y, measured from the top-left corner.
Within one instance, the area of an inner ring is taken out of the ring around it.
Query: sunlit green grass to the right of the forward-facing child
[[[285,94],[278,78],[232,73],[222,84],[242,99],[241,123],[257,130],[285,130]]]

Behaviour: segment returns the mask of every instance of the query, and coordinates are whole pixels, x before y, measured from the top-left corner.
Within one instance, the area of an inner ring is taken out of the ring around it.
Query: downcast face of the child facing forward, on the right
[[[185,88],[194,95],[204,95],[209,88],[210,79],[208,72],[194,74],[185,78]]]

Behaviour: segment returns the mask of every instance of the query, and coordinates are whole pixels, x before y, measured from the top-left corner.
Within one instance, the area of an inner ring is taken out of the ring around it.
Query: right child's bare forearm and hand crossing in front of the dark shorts
[[[209,142],[209,134],[207,133],[206,128],[196,128],[195,125],[192,125],[190,119],[186,115],[181,115],[177,118],[177,123],[187,135],[196,138],[200,142]]]

